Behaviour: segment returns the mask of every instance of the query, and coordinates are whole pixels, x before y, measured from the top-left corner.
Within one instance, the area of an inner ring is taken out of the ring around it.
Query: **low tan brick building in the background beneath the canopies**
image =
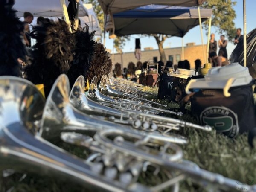
[[[204,45],[204,50],[206,52],[206,45]],[[166,48],[164,49],[166,53],[167,61],[170,60],[173,64],[177,64],[178,61],[182,60],[182,48]],[[123,67],[127,67],[129,62],[137,63],[137,59],[134,56],[134,52],[125,52],[122,53],[122,57],[120,53],[110,54],[111,60],[113,60],[114,64],[117,62],[123,64]],[[204,64],[204,55],[202,45],[195,45],[195,43],[188,43],[184,47],[184,60],[187,59],[190,63],[191,69],[195,69],[195,60],[200,59],[202,61],[202,65]],[[158,49],[151,49],[150,47],[144,48],[142,51],[141,62],[150,61],[157,62],[160,60],[160,53]]]

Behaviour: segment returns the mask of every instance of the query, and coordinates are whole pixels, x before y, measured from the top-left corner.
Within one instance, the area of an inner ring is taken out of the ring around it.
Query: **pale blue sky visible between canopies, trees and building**
[[[244,34],[244,18],[243,18],[243,0],[236,0],[236,6],[234,9],[236,11],[236,19],[234,20],[235,27],[242,29],[242,34]],[[252,31],[256,27],[255,22],[255,11],[256,11],[256,0],[246,0],[246,23],[247,23],[247,33]],[[204,44],[207,43],[207,32],[203,30],[204,35]],[[218,41],[220,39],[220,33],[216,27],[212,27],[211,33],[215,33],[215,40]],[[143,37],[141,35],[131,35],[130,41],[126,41],[123,52],[134,52],[135,49],[135,38],[140,38],[141,49],[144,50],[144,47],[153,47],[153,49],[158,49],[157,42],[153,37]],[[183,37],[184,46],[186,43],[195,42],[196,45],[201,44],[201,33],[200,27],[196,26],[193,29],[190,29],[189,32]],[[181,47],[182,46],[182,38],[179,37],[171,37],[166,39],[163,44],[164,48],[173,48],[173,47]],[[108,34],[106,34],[105,39],[105,47],[107,49],[111,49],[113,52],[113,39],[108,38]],[[235,48],[233,42],[228,42],[227,44],[227,54],[228,57],[231,55],[231,52]],[[116,52],[116,50],[114,50]],[[186,59],[186,58],[185,58]]]

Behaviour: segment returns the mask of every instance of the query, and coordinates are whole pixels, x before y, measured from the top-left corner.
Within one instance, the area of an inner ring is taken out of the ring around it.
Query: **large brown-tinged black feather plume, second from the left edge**
[[[30,52],[31,64],[24,77],[34,84],[44,84],[45,96],[62,73],[67,74],[73,62],[75,41],[64,20],[44,22],[31,32],[37,43]]]

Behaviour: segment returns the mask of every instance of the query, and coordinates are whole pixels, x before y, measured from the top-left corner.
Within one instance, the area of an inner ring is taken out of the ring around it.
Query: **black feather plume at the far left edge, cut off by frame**
[[[12,9],[13,1],[0,0],[0,75],[21,76],[18,58],[25,60],[21,32],[24,24]]]

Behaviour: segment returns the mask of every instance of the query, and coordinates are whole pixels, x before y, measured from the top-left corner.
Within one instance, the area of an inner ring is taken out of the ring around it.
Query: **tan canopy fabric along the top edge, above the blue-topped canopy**
[[[124,12],[149,4],[168,6],[198,6],[205,0],[98,0],[105,14]]]

